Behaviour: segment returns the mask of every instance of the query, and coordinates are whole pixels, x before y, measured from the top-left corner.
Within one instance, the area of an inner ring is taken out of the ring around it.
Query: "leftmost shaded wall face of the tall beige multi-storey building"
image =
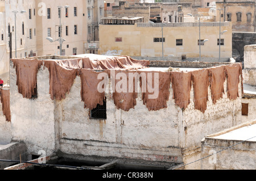
[[[4,83],[8,83],[10,60],[9,30],[12,33],[12,57],[15,57],[15,35],[17,57],[29,56],[30,53],[36,53],[36,55],[38,55],[36,50],[36,19],[34,15],[35,1],[1,1],[0,9],[0,52],[2,52],[0,55],[0,77],[2,77]],[[31,9],[31,19],[29,18],[29,9]],[[20,13],[21,10],[25,10],[27,12],[22,14]],[[19,11],[16,14],[16,34],[15,15],[13,11]],[[24,28],[22,28],[23,24]]]

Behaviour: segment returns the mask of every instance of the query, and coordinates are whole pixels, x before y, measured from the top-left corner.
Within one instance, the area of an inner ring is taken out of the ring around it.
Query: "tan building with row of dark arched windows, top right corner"
[[[232,31],[255,32],[255,0],[219,0],[216,1],[217,9],[222,9],[221,21],[232,22]],[[220,19],[218,10],[216,19]]]

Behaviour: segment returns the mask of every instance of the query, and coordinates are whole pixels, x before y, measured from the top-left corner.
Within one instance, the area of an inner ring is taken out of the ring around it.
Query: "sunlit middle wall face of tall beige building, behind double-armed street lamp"
[[[60,54],[59,41],[51,43],[46,39],[48,36],[48,28],[51,28],[51,37],[53,40],[59,39],[60,18],[58,15],[58,6],[68,5],[68,17],[65,17],[65,8],[61,8],[61,38],[63,42],[62,49],[65,55],[73,55],[84,53],[84,43],[86,41],[86,3],[81,0],[75,1],[52,1],[46,0],[36,1],[36,22],[38,24],[37,32],[40,37],[36,40],[39,56],[48,54]],[[74,7],[77,7],[77,16],[74,14]],[[51,9],[51,18],[47,18],[47,9]],[[75,25],[77,26],[77,34],[75,34]],[[68,35],[66,35],[66,27],[68,27]],[[74,52],[73,52],[73,49]]]

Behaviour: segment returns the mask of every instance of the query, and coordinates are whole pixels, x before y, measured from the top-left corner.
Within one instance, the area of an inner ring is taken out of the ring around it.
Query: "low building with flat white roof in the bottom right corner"
[[[256,120],[252,120],[206,136],[201,157],[207,158],[201,159],[201,169],[255,170],[255,131]]]

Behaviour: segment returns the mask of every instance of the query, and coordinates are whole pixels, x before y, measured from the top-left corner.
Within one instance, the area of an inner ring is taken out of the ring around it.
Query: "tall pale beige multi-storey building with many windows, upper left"
[[[62,7],[59,9],[59,6]],[[20,13],[21,10],[26,12]],[[97,53],[98,24],[104,16],[103,0],[55,3],[48,0],[7,0],[0,2],[0,11],[0,76],[5,83],[9,81],[9,60],[15,57],[15,50],[16,57],[60,54],[60,49],[63,55]],[[18,11],[16,28],[14,11]],[[47,37],[51,37],[52,42]]]

